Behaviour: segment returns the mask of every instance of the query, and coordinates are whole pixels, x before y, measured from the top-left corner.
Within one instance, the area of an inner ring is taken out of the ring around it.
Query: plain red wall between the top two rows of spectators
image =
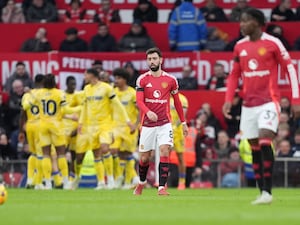
[[[283,27],[286,39],[291,46],[298,36],[299,31],[295,31],[298,22],[281,22],[276,23]],[[167,23],[145,23],[145,27],[148,33],[153,38],[156,45],[162,51],[169,51],[168,44],[168,24]],[[2,52],[18,52],[21,48],[24,40],[33,37],[36,30],[39,27],[45,27],[47,29],[47,37],[54,50],[59,48],[59,43],[64,39],[64,31],[69,27],[76,27],[78,34],[86,41],[90,41],[90,38],[97,32],[96,23],[87,24],[73,24],[73,23],[46,23],[46,24],[0,24],[0,30],[5,30],[5,35],[2,36],[0,42],[0,49]],[[228,40],[232,40],[239,34],[239,23],[208,23],[208,26],[218,27],[221,31],[228,34]],[[115,36],[116,40],[119,40],[125,33],[128,32],[130,24],[124,23],[112,23],[110,25],[110,32]],[[159,32],[157,32],[159,31]]]

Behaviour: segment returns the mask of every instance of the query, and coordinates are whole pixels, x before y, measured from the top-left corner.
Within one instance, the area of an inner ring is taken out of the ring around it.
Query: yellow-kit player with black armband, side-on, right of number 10
[[[88,69],[85,72],[85,82],[88,85],[84,88],[83,108],[80,113],[78,132],[85,135],[82,142],[78,142],[76,150],[77,174],[80,174],[85,152],[93,150],[95,169],[98,179],[97,190],[114,188],[113,159],[109,145],[113,141],[112,137],[112,108],[118,110],[127,125],[133,127],[130,119],[116,96],[113,87],[99,81],[98,71]],[[132,129],[132,128],[131,128]],[[105,185],[105,173],[107,176],[107,186]],[[78,179],[75,182],[78,183]]]

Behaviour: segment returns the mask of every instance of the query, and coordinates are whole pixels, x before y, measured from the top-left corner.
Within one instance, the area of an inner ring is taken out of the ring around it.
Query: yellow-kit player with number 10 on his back
[[[55,76],[47,74],[44,78],[44,88],[31,93],[33,101],[23,108],[37,104],[40,110],[39,143],[43,151],[42,170],[45,179],[45,188],[52,189],[51,182],[51,145],[55,147],[60,170],[68,171],[68,163],[65,156],[65,135],[62,116],[65,113],[79,112],[80,107],[68,107],[63,91],[56,88]],[[68,173],[63,177],[64,188],[69,185]]]

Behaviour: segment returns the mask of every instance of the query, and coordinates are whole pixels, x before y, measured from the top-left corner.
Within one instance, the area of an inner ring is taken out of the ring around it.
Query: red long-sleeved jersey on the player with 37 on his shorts
[[[249,37],[240,40],[234,48],[233,69],[227,81],[226,101],[232,102],[238,79],[243,80],[245,106],[258,106],[280,100],[278,88],[279,66],[289,75],[292,101],[300,103],[299,83],[289,53],[281,41],[263,33],[257,41]]]

